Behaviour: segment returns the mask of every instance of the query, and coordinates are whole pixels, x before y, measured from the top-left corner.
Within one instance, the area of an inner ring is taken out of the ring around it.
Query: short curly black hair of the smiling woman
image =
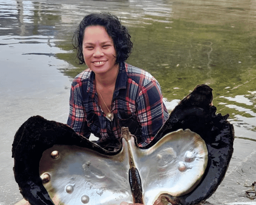
[[[72,39],[72,44],[77,51],[77,58],[79,64],[85,63],[83,57],[83,38],[85,33],[85,28],[92,25],[101,25],[106,28],[106,32],[112,38],[115,51],[116,51],[116,63],[119,64],[124,62],[132,53],[132,41],[127,28],[121,25],[117,16],[111,15],[109,13],[100,14],[89,14],[83,18],[78,26],[78,29],[74,32]]]

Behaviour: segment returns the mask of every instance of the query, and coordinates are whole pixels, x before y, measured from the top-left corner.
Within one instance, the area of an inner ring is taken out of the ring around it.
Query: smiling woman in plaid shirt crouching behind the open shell
[[[120,147],[121,127],[145,146],[168,118],[160,85],[148,72],[125,62],[132,51],[116,16],[89,14],[74,34],[77,58],[88,67],[75,77],[67,124],[107,150]]]

